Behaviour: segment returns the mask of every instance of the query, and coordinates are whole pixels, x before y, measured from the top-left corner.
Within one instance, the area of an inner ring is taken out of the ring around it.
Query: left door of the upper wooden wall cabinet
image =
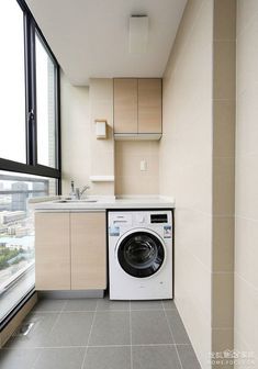
[[[137,133],[137,79],[114,79],[114,133]]]

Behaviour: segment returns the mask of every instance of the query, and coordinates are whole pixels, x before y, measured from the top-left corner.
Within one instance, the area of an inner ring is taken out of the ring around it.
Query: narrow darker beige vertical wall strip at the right
[[[236,1],[214,0],[212,351],[234,348]],[[221,368],[232,368],[221,360]],[[214,368],[218,368],[214,365]]]

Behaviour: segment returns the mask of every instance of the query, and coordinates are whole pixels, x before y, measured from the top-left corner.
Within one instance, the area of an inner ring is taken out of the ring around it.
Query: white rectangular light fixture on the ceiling
[[[142,54],[147,49],[148,43],[148,16],[130,16],[130,53]]]

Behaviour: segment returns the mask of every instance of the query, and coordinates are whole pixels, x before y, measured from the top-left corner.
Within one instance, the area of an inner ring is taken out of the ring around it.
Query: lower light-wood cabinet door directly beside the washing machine
[[[106,288],[105,213],[71,213],[71,290]]]

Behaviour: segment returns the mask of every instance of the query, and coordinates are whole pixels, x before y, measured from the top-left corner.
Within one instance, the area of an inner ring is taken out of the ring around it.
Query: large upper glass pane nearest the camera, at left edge
[[[0,157],[25,163],[23,12],[15,0],[1,0],[0,44]]]

